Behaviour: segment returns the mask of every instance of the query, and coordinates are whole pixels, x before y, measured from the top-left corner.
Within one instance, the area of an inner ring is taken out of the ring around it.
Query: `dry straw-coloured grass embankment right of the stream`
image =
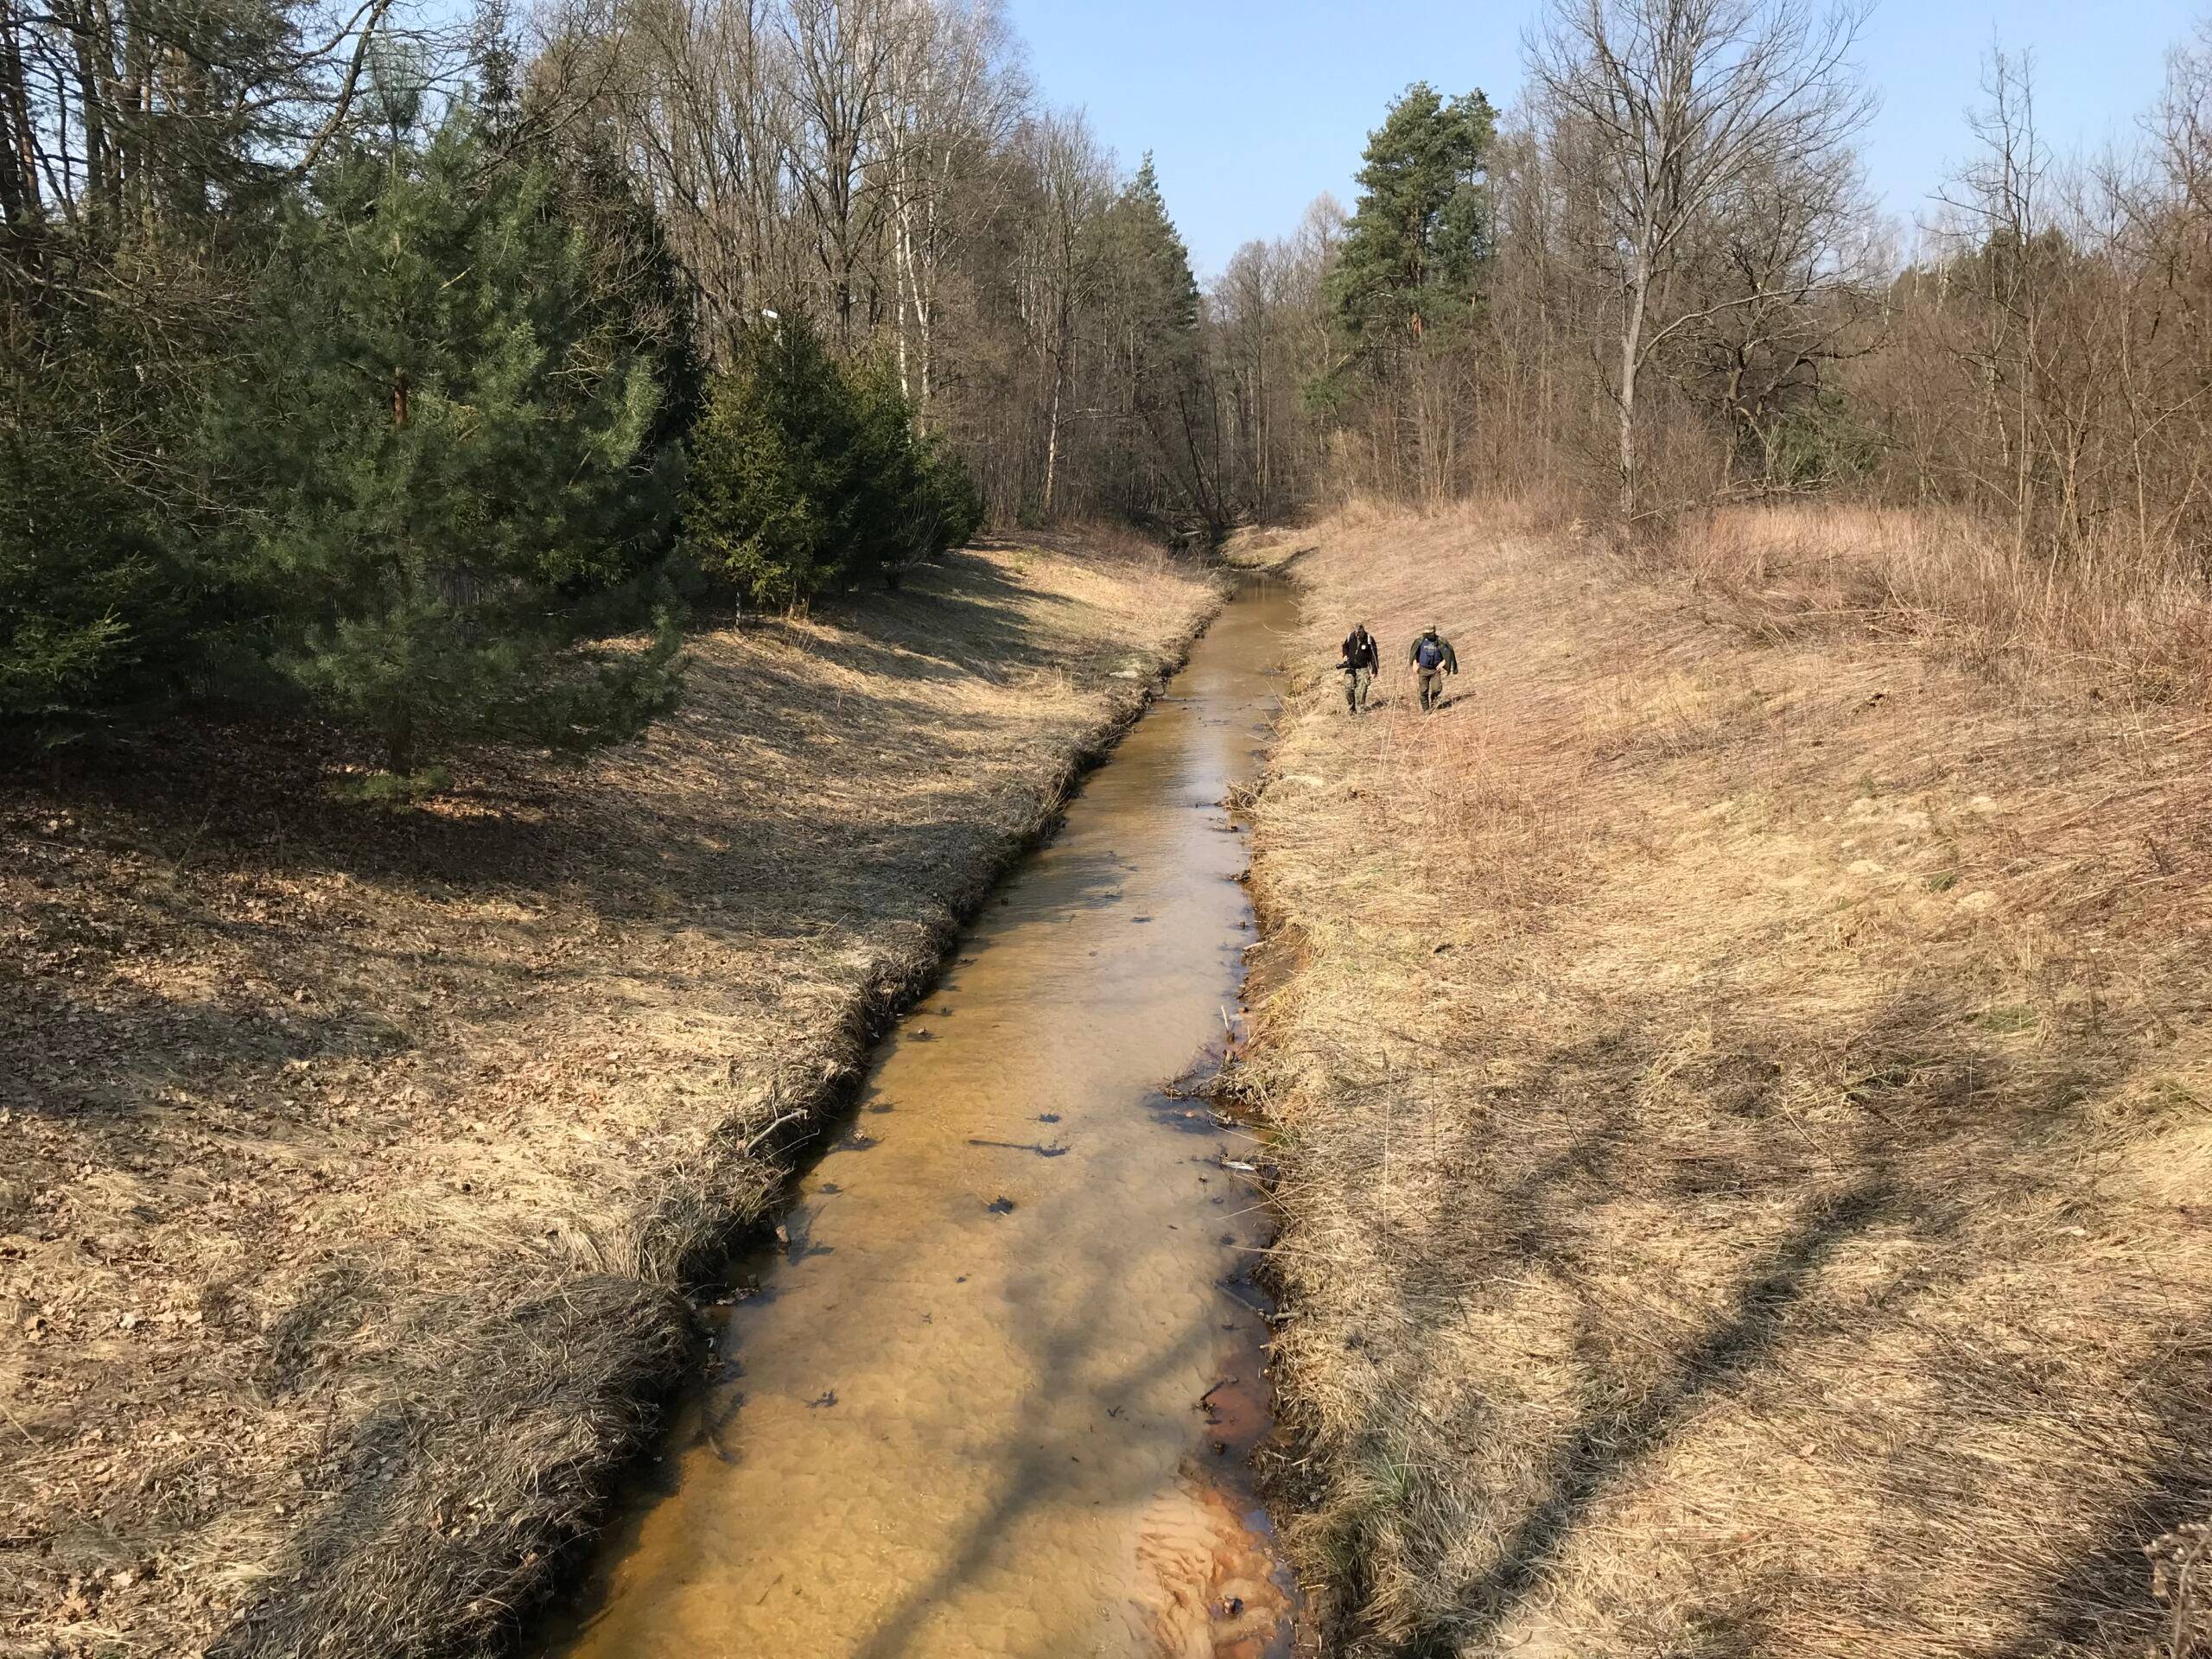
[[[2163,1650],[2212,719],[2146,701],[2190,668],[2150,633],[1792,526],[1701,582],[1482,513],[1301,538],[1252,1082],[1329,1652]]]

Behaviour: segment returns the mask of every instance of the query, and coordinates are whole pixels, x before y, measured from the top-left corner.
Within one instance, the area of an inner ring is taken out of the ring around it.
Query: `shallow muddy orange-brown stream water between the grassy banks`
[[[1234,1011],[1285,588],[1250,582],[883,1044],[564,1659],[1285,1652]]]

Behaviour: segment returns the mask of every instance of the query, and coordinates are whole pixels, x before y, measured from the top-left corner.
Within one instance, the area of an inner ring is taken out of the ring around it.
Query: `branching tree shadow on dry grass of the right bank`
[[[2117,1042],[2073,1064],[2037,1055],[2017,1066],[2015,1048],[1982,1035],[1966,995],[1960,984],[1909,978],[1849,1031],[1792,1031],[1767,1011],[1741,1029],[1717,1020],[1703,1051],[1663,1048],[1683,1029],[1666,998],[1617,998],[1608,1002],[1608,1031],[1553,1051],[1515,1082],[1502,1115],[1464,1106],[1442,1115],[1449,1130],[1433,1157],[1442,1159],[1444,1188],[1475,1190],[1480,1201],[1431,1206],[1394,1241],[1394,1274],[1378,1285],[1371,1321],[1436,1336],[1376,1349],[1385,1374],[1363,1385],[1374,1407],[1345,1462],[1376,1471],[1405,1467],[1407,1480],[1429,1482],[1436,1480],[1422,1473],[1429,1464],[1449,1469],[1455,1453],[1475,1458],[1498,1436],[1531,1433],[1526,1422],[1486,1405],[1489,1391],[1438,1387],[1444,1367],[1464,1360],[1444,1327],[1469,1305],[1495,1316],[1491,1287],[1531,1267],[1564,1292],[1555,1303],[1564,1312],[1533,1316],[1551,1318],[1553,1336],[1573,1338],[1562,1363],[1579,1374],[1582,1409],[1564,1427],[1540,1431],[1526,1484],[1517,1473],[1502,1475],[1502,1489],[1489,1475],[1482,1478],[1493,1480],[1489,1486],[1460,1484],[1458,1500],[1486,1511],[1484,1537],[1493,1542],[1480,1564],[1464,1568],[1467,1577],[1431,1579],[1436,1593],[1418,1606],[1400,1597],[1385,1613],[1374,1601],[1378,1564],[1387,1559],[1400,1584],[1409,1573],[1449,1575],[1449,1559],[1438,1553],[1444,1542],[1409,1546],[1378,1531],[1394,1515],[1402,1520],[1396,1509],[1402,1500],[1378,1489],[1380,1509],[1360,1511],[1365,1489],[1343,1489],[1343,1526],[1329,1548],[1352,1566],[1347,1628],[1338,1632],[1349,1650],[1409,1659],[1491,1650],[1517,1628],[1517,1617],[1533,1615],[1559,1588],[1553,1571],[1610,1495],[1666,1458],[1721,1400],[1739,1391],[1750,1400],[1754,1387],[1776,1383],[1785,1394],[1803,1385],[1787,1380],[1787,1354],[1807,1345],[1825,1352],[1836,1338],[1860,1354],[1891,1345],[1887,1365],[1907,1367],[1922,1391],[1880,1440],[1867,1440],[1880,1418],[1858,1429],[1854,1478],[1896,1493],[1882,1522],[1885,1548],[1911,1553],[1916,1540],[1933,1540],[1929,1571],[1936,1571],[1944,1551],[1975,1526],[2017,1524],[2017,1511],[1993,1506],[2035,1482],[2006,1484],[1986,1458],[1962,1449],[1953,1460],[1947,1442],[1971,1440],[1989,1422],[2035,1422],[2064,1411],[2053,1422],[2055,1451],[2095,1464],[2104,1449],[2112,1491],[2099,1495],[2093,1528],[2079,1535],[2064,1528],[2057,1533],[2064,1546],[2044,1551],[2055,1566],[2042,1568],[2042,1599],[2024,1608],[2015,1601],[2008,1619],[2015,1635],[1993,1652],[2028,1659],[2141,1641],[2152,1617],[2141,1544],[2212,1502],[2212,1451],[2190,1427],[2212,1394],[2205,1363],[2212,1356],[2181,1345],[2126,1400],[2068,1398],[2064,1380],[2053,1376],[2064,1356],[2037,1347],[2048,1340],[2044,1325],[2033,1314],[2026,1325],[2006,1325],[2020,1316],[2006,1314],[2002,1301],[1978,1303],[1971,1287],[1980,1272],[2000,1279],[2033,1272],[2031,1261],[1993,1256],[1993,1248],[2008,1245],[1982,1232],[1980,1221],[2035,1214],[2020,1206],[2051,1203],[2053,1183],[2066,1179],[2057,1155],[2077,1144],[2084,1102],[2099,1099],[2135,1057],[2128,1042]],[[1783,1068],[1767,1051],[1825,1068],[1812,1091],[1825,1113],[1809,1128],[1792,1106],[1807,1097],[1805,1073],[1794,1095],[1781,1091]],[[1652,1088],[1661,1093],[1650,1095]],[[1400,1144],[1409,1141],[1413,1135]],[[1619,1230],[1617,1217],[1606,1219],[1621,1203],[1639,1217],[1632,1234]],[[1792,1221],[1776,1237],[1778,1214]],[[1674,1256],[1646,1252],[1637,1241],[1644,1230],[1730,1254],[1732,1245],[1756,1243],[1756,1254],[1730,1272],[1725,1305],[1714,1310],[1708,1301],[1705,1314],[1690,1323],[1677,1314],[1686,1312],[1681,1287],[1659,1267]],[[1854,1274],[1845,1301],[1829,1301],[1818,1292],[1823,1274],[1871,1234],[1889,1241],[1880,1276]],[[1905,1241],[1909,1250],[1898,1248]],[[1624,1272],[1635,1276],[1604,1283]],[[1648,1303],[1657,1323],[1637,1329],[1630,1303]],[[2166,1303],[2152,1298],[2143,1307],[2115,1307],[2110,1318],[2139,1325],[2161,1316]],[[2004,1340],[1944,1336],[1960,1314],[1997,1321]],[[1542,1336],[1533,1347],[1553,1352]],[[1847,1385],[1836,1378],[1836,1387]],[[1440,1396],[1453,1402],[1438,1405]],[[1425,1402],[1411,1440],[1402,1409],[1409,1400]],[[1774,1400],[1743,1409],[1765,1422],[1761,1413]],[[2148,1460],[2143,1431],[2152,1433]],[[1453,1475],[1442,1482],[1449,1489]],[[1818,1486],[1805,1486],[1803,1502],[1818,1502]],[[2053,1542],[2051,1528],[2039,1542]],[[1805,1613],[1834,1604],[1836,1617],[1854,1606],[1818,1562],[1794,1559],[1774,1573],[1794,1588],[1717,1575],[1701,1588],[1699,1606],[1663,1615],[1666,1639],[1688,1641],[1686,1650],[1697,1655],[1774,1652],[1781,1637],[1761,1635],[1770,1606]],[[1867,1593],[1905,1590],[1869,1586]],[[1385,1617],[1398,1621],[1391,1639],[1380,1635]],[[1418,1626],[1407,1630],[1407,1617]]]

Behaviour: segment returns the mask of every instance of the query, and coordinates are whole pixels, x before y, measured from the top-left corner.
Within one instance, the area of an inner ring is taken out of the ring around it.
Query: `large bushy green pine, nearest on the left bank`
[[[268,502],[272,664],[396,772],[427,739],[617,741],[677,692],[666,613],[650,650],[575,650],[666,535],[659,389],[546,173],[487,161],[467,108],[330,161],[232,411]]]

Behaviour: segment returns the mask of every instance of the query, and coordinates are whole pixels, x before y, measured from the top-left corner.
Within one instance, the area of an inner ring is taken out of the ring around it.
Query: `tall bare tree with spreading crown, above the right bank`
[[[1849,53],[1865,0],[1553,0],[1528,77],[1573,188],[1588,195],[1615,290],[1619,511],[1635,518],[1637,385],[1652,354],[1717,307],[1677,303],[1697,223],[1781,157],[1818,168],[1874,113]]]

